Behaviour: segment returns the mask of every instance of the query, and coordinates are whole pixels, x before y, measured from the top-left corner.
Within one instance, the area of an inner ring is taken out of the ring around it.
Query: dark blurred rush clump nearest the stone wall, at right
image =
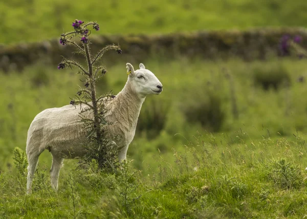
[[[281,85],[289,86],[291,83],[290,75],[281,62],[270,66],[258,64],[252,71],[255,84],[262,86],[265,90],[270,88],[277,90]]]

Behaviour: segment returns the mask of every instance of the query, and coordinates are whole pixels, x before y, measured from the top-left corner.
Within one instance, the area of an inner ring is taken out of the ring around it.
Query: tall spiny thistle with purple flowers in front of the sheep
[[[72,105],[80,105],[80,122],[84,124],[84,130],[87,132],[83,144],[89,153],[82,158],[83,162],[81,163],[95,159],[99,167],[110,167],[112,166],[111,162],[114,161],[115,152],[108,148],[111,147],[108,146],[111,139],[108,138],[106,133],[107,121],[104,115],[106,101],[111,100],[114,96],[107,94],[97,97],[95,84],[107,72],[105,65],[100,62],[103,54],[109,50],[115,50],[118,54],[121,54],[122,50],[119,46],[108,45],[93,56],[90,50],[90,35],[92,30],[99,31],[99,25],[96,22],[84,23],[82,20],[76,19],[72,23],[72,27],[73,31],[61,34],[60,44],[76,47],[76,53],[85,57],[86,67],[75,60],[63,57],[57,68],[61,70],[75,67],[78,69],[78,74],[84,77],[84,87],[79,86],[76,98],[70,101]],[[82,107],[82,104],[85,107]]]

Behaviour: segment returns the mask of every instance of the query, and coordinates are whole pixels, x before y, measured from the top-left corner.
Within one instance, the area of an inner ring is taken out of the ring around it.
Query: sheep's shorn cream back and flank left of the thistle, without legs
[[[81,145],[85,130],[79,113],[80,106],[73,105],[45,109],[31,123],[27,145],[33,142],[40,150],[50,149],[72,158],[82,156],[85,153]],[[85,113],[90,115],[89,112]]]

